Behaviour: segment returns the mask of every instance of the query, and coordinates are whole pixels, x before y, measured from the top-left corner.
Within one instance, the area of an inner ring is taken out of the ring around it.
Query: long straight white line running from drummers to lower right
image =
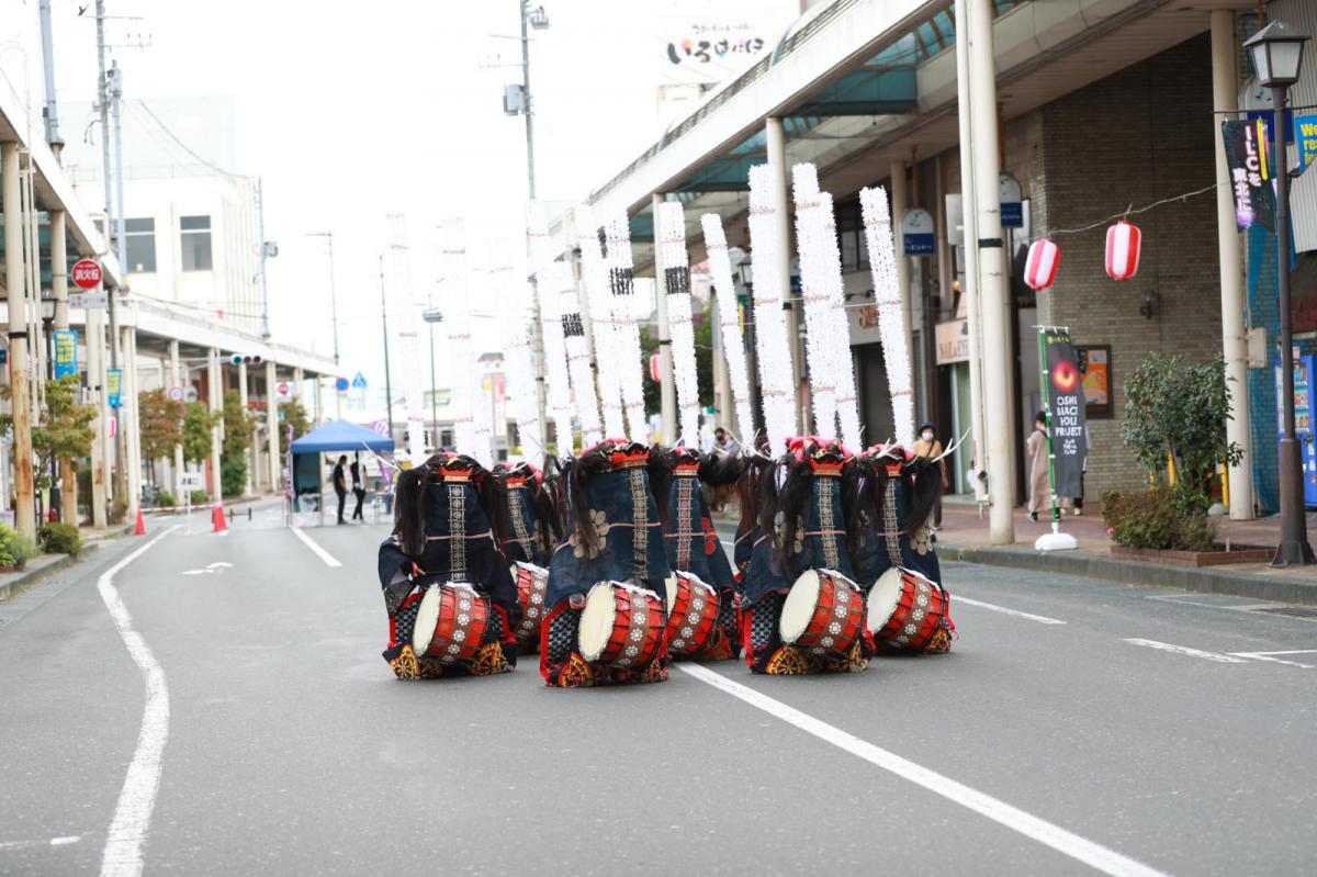
[[[715,689],[726,691],[727,694],[731,694],[732,697],[744,701],[745,703],[763,710],[782,722],[786,722],[788,724],[795,726],[806,733],[814,735],[824,743],[831,743],[839,749],[844,749],[846,752],[849,752],[859,758],[864,758],[869,764],[882,768],[902,780],[907,780],[936,795],[942,795],[952,803],[957,803],[967,810],[972,810],[981,816],[1010,828],[1011,831],[1017,831],[1030,840],[1051,847],[1056,852],[1084,863],[1089,868],[1100,870],[1104,874],[1113,874],[1113,877],[1156,877],[1163,874],[1163,872],[1134,861],[1129,856],[1123,856],[1114,849],[1108,849],[1101,844],[1080,837],[1076,834],[1065,831],[1060,826],[1052,824],[1044,819],[1034,816],[1033,814],[1027,814],[1018,807],[1013,807],[1011,805],[998,801],[997,798],[979,791],[977,789],[971,789],[961,782],[956,782],[955,780],[918,765],[914,761],[902,758],[901,756],[888,752],[868,740],[861,740],[860,737],[815,719],[806,712],[801,712],[794,707],[786,706],[781,701],[776,701],[766,694],[760,694],[755,689],[747,687],[740,682],[734,682],[720,673],[715,673],[714,670],[698,664],[677,664],[674,666],[684,673],[695,677],[701,682],[706,682]]]

